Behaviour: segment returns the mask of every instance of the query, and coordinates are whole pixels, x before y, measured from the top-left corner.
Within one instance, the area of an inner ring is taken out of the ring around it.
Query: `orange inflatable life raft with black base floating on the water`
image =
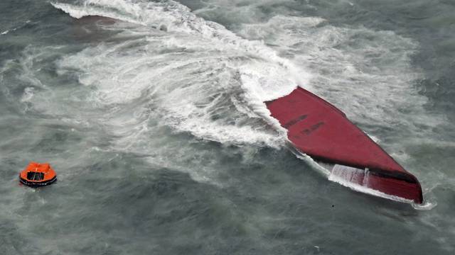
[[[31,162],[19,174],[19,181],[33,188],[49,185],[56,180],[57,174],[55,174],[54,169],[50,167],[49,163],[40,164]]]

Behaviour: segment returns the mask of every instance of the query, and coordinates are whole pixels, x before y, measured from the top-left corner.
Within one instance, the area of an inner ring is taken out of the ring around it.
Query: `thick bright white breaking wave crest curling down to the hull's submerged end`
[[[151,28],[165,28],[169,32],[186,33],[206,38],[215,42],[220,50],[226,47],[237,50],[245,55],[261,57],[267,62],[274,62],[283,67],[289,75],[287,84],[283,81],[262,80],[262,84],[246,86],[259,96],[260,101],[270,101],[289,94],[297,85],[308,83],[310,74],[301,67],[296,67],[291,61],[279,57],[277,52],[264,45],[259,40],[245,40],[226,29],[224,26],[205,21],[196,16],[186,6],[175,1],[146,2],[124,0],[87,0],[82,6],[71,4],[51,3],[55,8],[65,11],[74,18],[84,16],[105,16],[109,18],[137,23]],[[270,70],[267,70],[270,71]],[[290,82],[289,82],[290,81]]]

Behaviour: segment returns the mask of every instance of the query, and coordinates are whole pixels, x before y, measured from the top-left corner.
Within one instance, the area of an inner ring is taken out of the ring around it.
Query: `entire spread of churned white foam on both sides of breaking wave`
[[[80,112],[40,101],[33,88],[23,101],[44,113],[63,114],[71,123],[102,125],[117,137],[112,149],[151,154],[155,148],[143,142],[153,130],[151,123],[226,145],[282,147],[285,132],[263,102],[296,86],[319,91],[365,125],[395,125],[396,118],[385,112],[387,103],[417,115],[425,103],[407,95],[417,77],[407,63],[417,46],[394,33],[336,28],[322,18],[275,16],[267,23],[243,25],[236,34],[174,1],[87,0],[53,6],[74,18],[113,18],[119,22],[100,26],[118,33],[56,62],[60,76],[77,77],[87,88],[87,96],[77,98],[85,103]],[[353,38],[362,36],[366,46],[359,52]],[[385,39],[368,41],[368,36]],[[395,46],[387,50],[390,42]],[[412,100],[400,104],[403,96]],[[373,114],[365,114],[370,109]],[[403,130],[412,129],[414,119],[402,115]]]

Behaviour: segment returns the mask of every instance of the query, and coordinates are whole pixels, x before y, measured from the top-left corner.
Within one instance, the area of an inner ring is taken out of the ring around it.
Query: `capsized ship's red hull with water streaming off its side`
[[[331,181],[392,200],[423,202],[415,176],[331,103],[300,87],[265,103],[293,147],[330,171]]]

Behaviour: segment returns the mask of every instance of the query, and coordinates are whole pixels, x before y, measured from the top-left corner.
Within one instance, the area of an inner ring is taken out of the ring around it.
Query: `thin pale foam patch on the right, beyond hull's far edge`
[[[444,121],[427,114],[423,107],[427,98],[414,89],[414,81],[422,78],[410,64],[417,42],[392,31],[339,28],[325,22],[317,17],[274,16],[267,23],[245,24],[239,33],[276,45],[274,50],[309,70],[307,88],[355,123],[399,127],[424,137],[428,134],[422,134],[422,125]]]

